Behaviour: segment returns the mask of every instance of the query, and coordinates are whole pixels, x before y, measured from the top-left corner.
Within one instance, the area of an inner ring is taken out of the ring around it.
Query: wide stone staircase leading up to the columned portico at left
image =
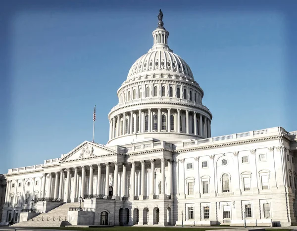
[[[29,221],[20,222],[11,227],[60,227],[71,225],[67,222],[67,213],[71,207],[79,207],[79,202],[64,203],[47,213],[41,213]],[[83,208],[83,203],[81,207]]]

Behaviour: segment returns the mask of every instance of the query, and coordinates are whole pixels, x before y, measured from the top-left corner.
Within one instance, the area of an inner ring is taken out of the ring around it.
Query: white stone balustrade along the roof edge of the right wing
[[[257,137],[264,137],[264,136],[273,136],[273,135],[281,135],[281,134],[287,134],[289,136],[296,136],[297,131],[287,133],[285,130],[280,129],[280,127],[276,128],[269,128],[269,129],[262,129],[262,130],[256,130],[256,131],[250,131],[250,132],[244,132],[244,133],[236,133],[232,135],[226,135],[226,136],[220,136],[220,137],[212,137],[207,139],[195,139],[191,141],[186,141],[182,143],[182,147],[189,147],[189,146],[200,146],[200,145],[210,145],[215,143],[222,143],[228,140],[230,141],[236,141],[236,140],[243,140],[243,139],[251,139],[251,138],[257,138]]]

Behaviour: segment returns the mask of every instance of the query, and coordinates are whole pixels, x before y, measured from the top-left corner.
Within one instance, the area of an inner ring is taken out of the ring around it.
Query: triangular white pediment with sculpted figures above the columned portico
[[[74,160],[90,159],[96,156],[105,156],[110,154],[115,154],[116,151],[105,147],[104,145],[85,141],[78,145],[72,151],[64,155],[59,162],[68,162]]]

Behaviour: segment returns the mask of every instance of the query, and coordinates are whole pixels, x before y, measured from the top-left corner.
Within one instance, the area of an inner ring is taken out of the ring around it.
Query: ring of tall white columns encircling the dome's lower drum
[[[183,110],[182,110],[183,111]],[[199,114],[195,111],[191,112],[191,117],[194,119],[194,131],[190,132],[190,111],[185,110],[185,120],[186,124],[183,123],[181,126],[180,117],[182,115],[181,109],[177,109],[176,113],[171,112],[171,108],[162,109],[157,108],[157,112],[152,110],[151,108],[148,109],[139,109],[139,110],[131,110],[129,112],[123,112],[122,114],[118,114],[112,117],[109,121],[109,139],[113,139],[116,137],[120,137],[122,135],[129,135],[129,134],[136,134],[136,133],[144,133],[144,132],[152,132],[154,130],[154,120],[153,115],[157,115],[157,132],[161,132],[162,130],[162,113],[166,115],[166,132],[177,132],[181,133],[184,131],[186,134],[193,134],[196,136],[203,136],[205,138],[211,137],[211,129],[210,129],[210,119],[202,114]],[[171,115],[174,115],[174,121],[171,121]],[[146,116],[148,119],[146,121]],[[134,118],[134,124],[133,124]],[[137,124],[137,118],[138,124]],[[122,120],[122,123],[121,123]],[[127,120],[127,121],[126,121]],[[199,124],[197,122],[199,121]],[[126,122],[128,123],[126,125]],[[173,130],[171,130],[171,122],[173,123]],[[147,123],[147,128],[146,128]],[[177,126],[176,126],[177,125]],[[126,130],[127,127],[127,130]],[[134,128],[133,128],[134,127]],[[182,129],[180,129],[182,127]],[[198,129],[199,128],[199,129]]]

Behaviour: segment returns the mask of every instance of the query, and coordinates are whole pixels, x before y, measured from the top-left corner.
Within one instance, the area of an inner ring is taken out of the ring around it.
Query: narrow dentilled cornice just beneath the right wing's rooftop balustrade
[[[269,140],[269,139],[280,139],[283,136],[284,135],[274,136],[274,137],[265,137],[265,138],[259,138],[259,139],[248,139],[248,140],[241,140],[241,141],[235,141],[235,142],[226,142],[226,143],[208,145],[208,146],[203,146],[203,147],[197,146],[197,147],[177,150],[175,152],[176,153],[182,153],[182,152],[187,152],[187,151],[196,151],[196,150],[203,150],[203,149],[205,150],[205,149],[212,149],[212,148],[225,147],[225,146],[234,146],[234,145],[238,145],[238,144],[259,142],[259,141]]]

